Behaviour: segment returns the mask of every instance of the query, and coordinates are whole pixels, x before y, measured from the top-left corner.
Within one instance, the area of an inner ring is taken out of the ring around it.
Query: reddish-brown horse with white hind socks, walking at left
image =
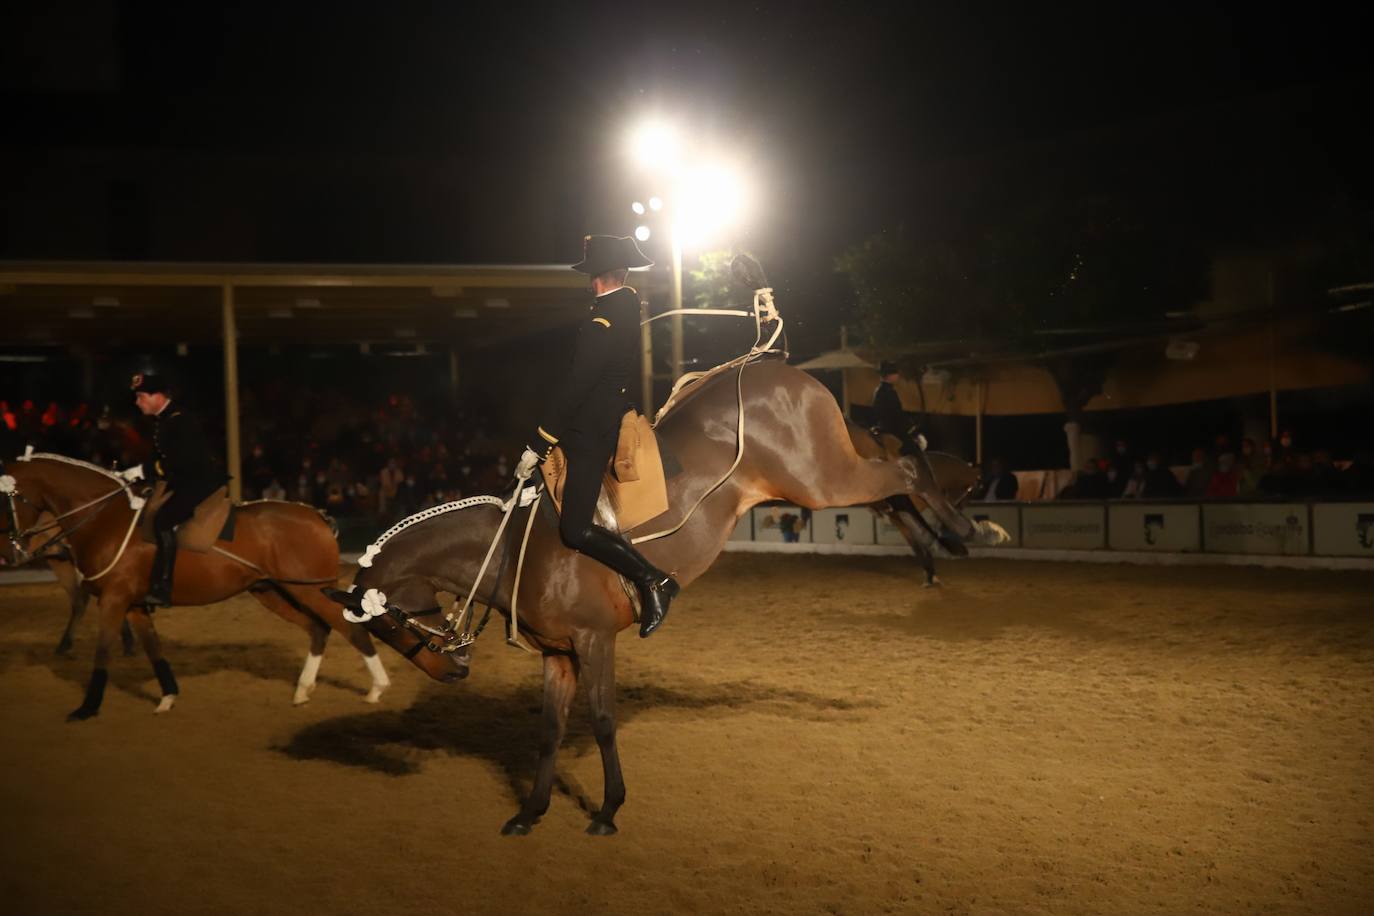
[[[162,656],[153,617],[142,606],[148,588],[153,545],[136,533],[139,522],[128,482],[95,464],[60,455],[26,455],[0,463],[0,515],[8,527],[8,560],[18,564],[25,544],[41,534],[65,541],[82,575],[82,586],[98,599],[99,641],[85,698],[67,718],[85,720],[100,711],[109,680],[109,659],[121,623],[128,619],[153,663],[162,698],[158,711],[176,702],[179,687]],[[55,522],[40,527],[47,512]],[[181,551],[173,582],[174,604],[212,604],[249,592],[262,606],[311,636],[311,648],[295,684],[294,702],[306,702],[315,689],[324,643],[339,632],[363,654],[372,676],[368,702],[376,702],[390,678],[376,658],[372,640],[346,622],[319,585],[338,577],[338,542],[327,516],[298,503],[264,500],[236,508],[234,540],[207,553]],[[38,548],[41,552],[41,548]],[[227,553],[225,551],[232,551]],[[442,659],[422,659],[442,678]],[[449,672],[452,665],[445,665]]]

